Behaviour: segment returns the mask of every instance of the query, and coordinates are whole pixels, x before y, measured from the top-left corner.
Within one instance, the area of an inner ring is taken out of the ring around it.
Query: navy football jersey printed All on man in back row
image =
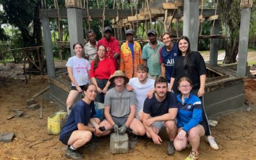
[[[165,77],[170,83],[170,79],[172,77],[172,71],[174,67],[174,61],[178,56],[178,45],[175,43],[173,44],[172,50],[167,51],[166,46],[164,46],[162,49],[159,51],[160,53],[160,61],[161,63],[164,63],[165,67]]]

